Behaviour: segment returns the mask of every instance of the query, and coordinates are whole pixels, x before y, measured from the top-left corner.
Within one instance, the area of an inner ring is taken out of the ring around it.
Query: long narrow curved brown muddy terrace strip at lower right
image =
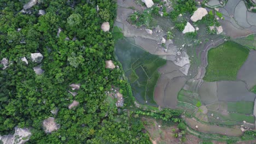
[[[217,125],[203,124],[195,121],[193,118],[185,118],[185,122],[189,125],[190,128],[200,131],[202,133],[208,134],[220,134],[220,135],[228,135],[228,136],[241,136],[243,135],[240,128],[225,128],[219,127]],[[196,125],[198,128],[196,129]]]

